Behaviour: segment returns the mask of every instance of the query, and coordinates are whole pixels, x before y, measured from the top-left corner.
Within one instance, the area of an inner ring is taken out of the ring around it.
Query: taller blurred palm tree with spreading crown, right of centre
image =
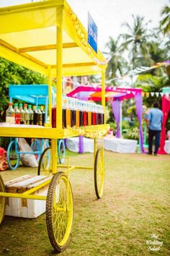
[[[148,22],[144,22],[144,17],[133,15],[133,26],[127,22],[122,24],[128,28],[129,33],[121,34],[123,42],[120,47],[122,51],[130,52],[130,61],[133,69],[140,65],[151,64],[151,58],[148,51]]]

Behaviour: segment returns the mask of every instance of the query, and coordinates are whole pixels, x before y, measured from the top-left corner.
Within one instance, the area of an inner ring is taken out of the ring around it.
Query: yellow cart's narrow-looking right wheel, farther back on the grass
[[[101,149],[97,150],[94,162],[94,187],[97,198],[101,198],[104,187],[104,161]]]

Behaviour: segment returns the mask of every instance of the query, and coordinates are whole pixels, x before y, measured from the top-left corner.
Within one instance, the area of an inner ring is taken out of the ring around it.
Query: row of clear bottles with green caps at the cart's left
[[[6,122],[13,124],[35,124],[35,125],[45,125],[45,112],[43,106],[32,106],[22,103],[14,103],[14,108],[12,103],[9,102],[9,108],[6,110]]]

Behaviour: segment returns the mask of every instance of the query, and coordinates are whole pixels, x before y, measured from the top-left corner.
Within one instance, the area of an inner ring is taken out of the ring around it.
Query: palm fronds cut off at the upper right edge
[[[170,7],[166,5],[162,10],[161,10],[161,15],[165,16],[161,20],[161,28],[164,31],[164,34],[170,33]]]

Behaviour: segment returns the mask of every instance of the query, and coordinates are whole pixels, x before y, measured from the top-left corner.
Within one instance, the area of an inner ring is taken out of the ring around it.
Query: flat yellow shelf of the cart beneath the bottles
[[[0,127],[0,137],[31,137],[48,139],[65,139],[67,137],[84,136],[89,138],[102,137],[107,134],[109,124],[99,124],[95,126],[58,129],[42,127],[41,129],[23,127]]]

